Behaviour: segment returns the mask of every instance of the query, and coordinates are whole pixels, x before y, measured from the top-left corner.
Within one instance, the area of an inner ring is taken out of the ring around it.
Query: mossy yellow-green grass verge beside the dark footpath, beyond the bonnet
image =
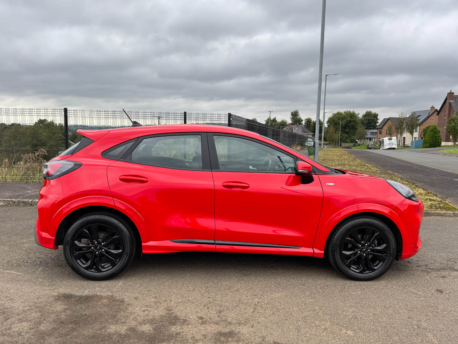
[[[433,211],[458,211],[450,203],[447,203],[442,198],[436,196],[430,191],[420,188],[415,183],[409,182],[391,172],[384,171],[376,166],[368,164],[343,149],[325,149],[318,153],[319,162],[325,166],[340,168],[343,170],[367,173],[375,177],[391,179],[398,183],[403,183],[414,191],[425,205],[425,210]]]

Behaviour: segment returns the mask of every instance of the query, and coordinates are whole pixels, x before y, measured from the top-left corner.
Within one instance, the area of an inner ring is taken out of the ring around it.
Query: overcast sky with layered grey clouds
[[[328,0],[327,111],[458,92],[456,5]],[[0,107],[315,117],[320,28],[320,0],[2,0]]]

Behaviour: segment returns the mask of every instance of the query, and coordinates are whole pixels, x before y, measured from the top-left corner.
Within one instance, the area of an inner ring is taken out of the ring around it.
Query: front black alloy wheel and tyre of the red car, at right
[[[356,281],[382,276],[392,266],[396,239],[373,217],[354,217],[339,224],[329,238],[327,256],[334,268]]]

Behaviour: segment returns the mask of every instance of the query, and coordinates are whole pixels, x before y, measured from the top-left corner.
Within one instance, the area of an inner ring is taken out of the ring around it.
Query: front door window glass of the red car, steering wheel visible
[[[255,141],[213,135],[219,169],[236,172],[294,173],[294,159]]]

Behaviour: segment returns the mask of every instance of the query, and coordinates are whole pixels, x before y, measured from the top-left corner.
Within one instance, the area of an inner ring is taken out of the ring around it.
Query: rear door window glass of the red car
[[[201,135],[171,135],[142,139],[127,160],[145,165],[202,170]]]

